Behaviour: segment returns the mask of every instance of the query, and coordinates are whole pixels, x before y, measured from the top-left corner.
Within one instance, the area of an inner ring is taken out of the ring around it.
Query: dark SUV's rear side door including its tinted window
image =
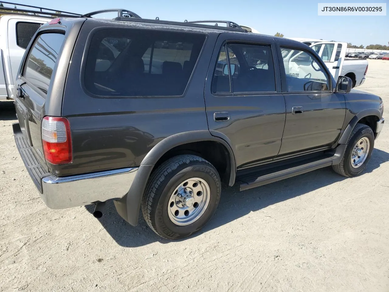
[[[274,40],[236,37],[231,33],[219,36],[204,95],[209,130],[230,142],[239,168],[272,160],[278,154],[285,100]]]

